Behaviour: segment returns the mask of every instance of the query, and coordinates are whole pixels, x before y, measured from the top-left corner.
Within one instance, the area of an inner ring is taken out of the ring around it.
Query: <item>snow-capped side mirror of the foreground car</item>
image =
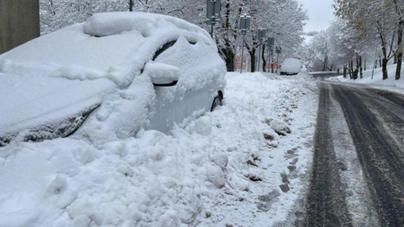
[[[178,82],[180,69],[164,63],[149,62],[144,66],[144,73],[149,75],[156,87],[170,87]]]

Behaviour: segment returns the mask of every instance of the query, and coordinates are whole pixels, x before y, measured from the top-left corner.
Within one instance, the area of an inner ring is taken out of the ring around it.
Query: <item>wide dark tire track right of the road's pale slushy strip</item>
[[[380,224],[404,226],[404,160],[399,146],[386,131],[385,123],[365,104],[363,94],[345,86],[332,87],[348,123]]]

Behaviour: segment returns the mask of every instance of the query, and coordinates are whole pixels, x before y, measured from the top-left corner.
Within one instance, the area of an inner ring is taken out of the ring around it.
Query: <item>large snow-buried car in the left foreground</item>
[[[221,105],[225,73],[215,42],[196,25],[94,14],[0,55],[0,146],[168,133]]]

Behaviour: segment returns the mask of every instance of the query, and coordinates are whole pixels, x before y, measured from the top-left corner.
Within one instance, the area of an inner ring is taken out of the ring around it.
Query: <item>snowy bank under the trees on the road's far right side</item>
[[[374,88],[380,88],[385,90],[396,91],[404,93],[404,67],[401,68],[401,78],[395,80],[395,70],[397,65],[387,66],[388,78],[383,80],[382,68],[377,68],[373,72],[372,79],[372,69],[364,71],[363,78],[357,80],[349,80],[343,78],[343,76],[332,77],[328,80],[347,82],[352,84],[364,84]]]

